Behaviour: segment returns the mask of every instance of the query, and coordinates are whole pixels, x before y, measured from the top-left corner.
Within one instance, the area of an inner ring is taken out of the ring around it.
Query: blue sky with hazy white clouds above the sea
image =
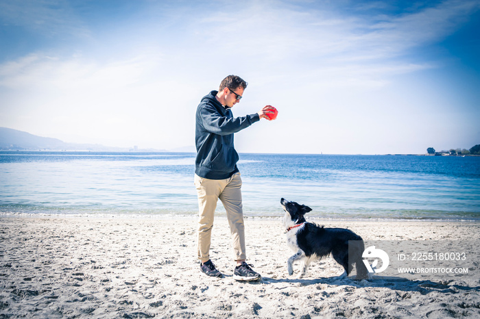
[[[240,153],[480,144],[480,0],[0,0],[0,127],[175,150],[221,79]]]

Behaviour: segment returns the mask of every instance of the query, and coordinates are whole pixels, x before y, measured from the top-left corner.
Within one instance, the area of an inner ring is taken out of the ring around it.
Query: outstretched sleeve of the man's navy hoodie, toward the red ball
[[[260,116],[257,113],[237,118],[228,118],[219,114],[213,105],[208,104],[203,105],[200,109],[200,117],[202,118],[204,129],[219,135],[237,133],[260,120]]]

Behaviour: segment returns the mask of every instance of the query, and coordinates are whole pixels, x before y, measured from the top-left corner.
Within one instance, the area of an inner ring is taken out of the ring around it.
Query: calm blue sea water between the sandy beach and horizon
[[[0,216],[194,216],[193,153],[0,152]],[[480,220],[480,157],[240,154],[245,216]],[[221,203],[217,214],[224,215]]]

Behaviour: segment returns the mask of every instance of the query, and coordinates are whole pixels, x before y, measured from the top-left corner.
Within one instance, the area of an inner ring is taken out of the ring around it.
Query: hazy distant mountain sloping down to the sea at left
[[[99,144],[67,143],[57,138],[43,138],[24,131],[0,127],[0,149],[2,150],[88,150],[88,151],[128,151]]]

